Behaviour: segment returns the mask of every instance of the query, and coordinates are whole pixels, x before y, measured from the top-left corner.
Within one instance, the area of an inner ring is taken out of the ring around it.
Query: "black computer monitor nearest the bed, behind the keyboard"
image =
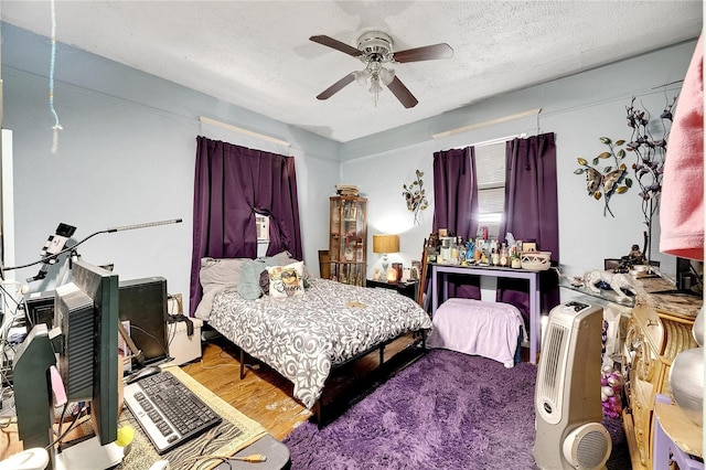
[[[129,322],[129,334],[142,351],[145,364],[169,356],[167,333],[167,279],[148,277],[120,281],[120,321]]]

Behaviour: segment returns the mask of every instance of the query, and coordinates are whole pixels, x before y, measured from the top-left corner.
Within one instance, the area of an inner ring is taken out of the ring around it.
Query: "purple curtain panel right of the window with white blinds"
[[[559,261],[559,214],[557,202],[556,147],[554,133],[514,139],[505,145],[505,207],[500,234],[535,241],[537,249],[552,252],[552,265]],[[554,269],[543,271],[542,312],[559,303],[558,278]],[[528,318],[527,282],[499,279],[498,301],[516,306]]]

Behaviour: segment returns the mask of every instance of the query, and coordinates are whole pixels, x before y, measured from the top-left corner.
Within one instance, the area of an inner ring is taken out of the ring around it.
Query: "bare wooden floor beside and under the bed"
[[[408,335],[387,345],[385,361],[411,342],[413,338]],[[254,364],[255,367],[248,367],[245,378],[240,380],[239,355],[237,346],[218,338],[204,343],[200,362],[185,364],[181,368],[240,413],[259,421],[276,439],[284,439],[299,424],[309,419],[312,413],[292,397],[291,382],[247,355],[246,364]],[[340,393],[336,389],[349,389],[354,377],[376,370],[378,363],[379,354],[373,352],[355,363],[341,367],[329,382],[332,395],[336,396]],[[404,365],[395,361],[391,364],[397,367]],[[385,374],[389,373],[391,371],[385,371]],[[376,376],[370,380],[365,385],[366,389],[374,386],[377,378]],[[365,381],[362,383],[365,384]]]

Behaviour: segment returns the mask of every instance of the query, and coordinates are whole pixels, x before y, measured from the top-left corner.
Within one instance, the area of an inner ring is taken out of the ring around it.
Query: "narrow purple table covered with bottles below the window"
[[[494,278],[527,279],[530,281],[530,362],[537,363],[537,353],[541,350],[541,321],[539,321],[539,271],[526,269],[512,269],[500,267],[453,266],[430,264],[431,266],[431,316],[439,306],[439,275],[443,286],[442,300],[449,295],[448,275],[485,276]]]

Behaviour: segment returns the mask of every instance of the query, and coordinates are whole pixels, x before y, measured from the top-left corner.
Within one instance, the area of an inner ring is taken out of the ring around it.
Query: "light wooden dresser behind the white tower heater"
[[[702,299],[654,293],[670,289],[659,280],[643,280],[628,322],[622,366],[628,406],[623,426],[633,469],[652,469],[655,396],[671,396],[672,361],[683,350],[696,348],[692,327]]]

